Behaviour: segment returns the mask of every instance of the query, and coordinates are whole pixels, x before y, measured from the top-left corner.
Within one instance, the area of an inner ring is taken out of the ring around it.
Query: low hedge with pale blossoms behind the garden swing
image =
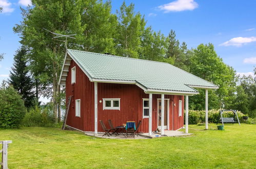
[[[208,110],[208,122],[210,123],[216,123],[219,118],[220,110]],[[240,111],[237,111],[239,121],[243,121],[244,114]],[[223,114],[223,117],[233,117],[234,114],[232,111],[225,112]],[[235,117],[237,119],[237,117]],[[189,110],[188,112],[188,124],[198,124],[205,122],[205,111],[200,110]],[[220,121],[219,121],[220,122]],[[185,118],[184,118],[185,123]]]

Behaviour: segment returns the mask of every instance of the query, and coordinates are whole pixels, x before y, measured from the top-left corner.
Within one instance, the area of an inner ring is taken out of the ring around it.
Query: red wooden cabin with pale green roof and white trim
[[[184,96],[192,87],[212,83],[172,65],[126,57],[67,50],[59,81],[72,96],[67,125],[83,132],[103,132],[99,120],[115,126],[142,121],[139,132],[184,126]],[[163,103],[164,102],[164,103]]]

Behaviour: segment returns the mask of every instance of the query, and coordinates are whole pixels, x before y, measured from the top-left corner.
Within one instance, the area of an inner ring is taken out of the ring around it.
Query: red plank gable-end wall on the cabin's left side
[[[75,83],[71,84],[71,68],[75,66]],[[72,97],[67,125],[82,131],[94,131],[94,83],[72,60],[66,80],[66,101]],[[81,99],[81,117],[75,117],[75,100]]]

